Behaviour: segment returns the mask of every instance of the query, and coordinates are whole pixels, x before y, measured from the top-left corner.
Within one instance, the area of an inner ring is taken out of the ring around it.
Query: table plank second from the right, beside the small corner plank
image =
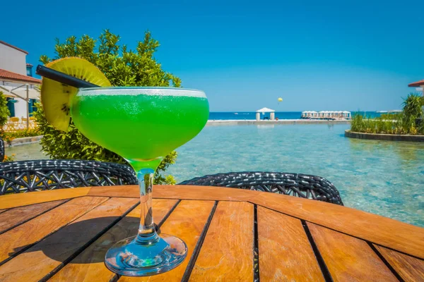
[[[307,223],[334,281],[398,281],[363,240]]]

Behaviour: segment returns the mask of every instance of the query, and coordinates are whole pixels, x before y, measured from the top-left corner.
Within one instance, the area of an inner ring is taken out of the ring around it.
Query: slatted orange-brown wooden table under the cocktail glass
[[[106,250],[136,234],[138,188],[76,188],[0,197],[0,281],[253,281],[258,262],[260,281],[424,281],[424,228],[266,192],[177,185],[153,195],[160,231],[189,247],[176,269],[107,270]]]

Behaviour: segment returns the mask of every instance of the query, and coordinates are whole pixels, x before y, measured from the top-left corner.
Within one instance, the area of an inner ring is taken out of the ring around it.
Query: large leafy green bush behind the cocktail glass
[[[80,39],[68,37],[64,42],[56,39],[54,59],[77,56],[86,59],[100,68],[114,86],[161,86],[180,87],[181,80],[172,73],[163,71],[153,54],[160,46],[159,42],[146,32],[144,39],[138,42],[136,50],[132,51],[125,44],[119,45],[119,35],[109,30],[102,32],[98,39],[83,35]],[[42,63],[52,61],[43,55]],[[122,157],[91,142],[73,125],[67,133],[56,130],[45,119],[40,104],[35,113],[40,131],[44,137],[41,140],[42,149],[54,159],[90,159],[98,161],[113,161],[126,163]],[[111,132],[110,134],[114,134]],[[177,152],[171,152],[158,167],[155,174],[155,184],[175,184],[172,176],[163,176],[166,168],[175,163]]]

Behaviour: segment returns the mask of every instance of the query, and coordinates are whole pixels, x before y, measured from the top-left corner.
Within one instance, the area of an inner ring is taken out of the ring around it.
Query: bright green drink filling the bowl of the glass
[[[98,145],[128,160],[148,161],[184,145],[208,120],[206,97],[134,91],[78,93],[71,102],[73,122]]]

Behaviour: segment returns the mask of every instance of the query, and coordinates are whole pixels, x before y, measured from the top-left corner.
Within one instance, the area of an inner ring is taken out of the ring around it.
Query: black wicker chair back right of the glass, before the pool
[[[281,172],[230,172],[202,176],[181,185],[221,186],[292,195],[343,205],[333,183],[320,176]]]

